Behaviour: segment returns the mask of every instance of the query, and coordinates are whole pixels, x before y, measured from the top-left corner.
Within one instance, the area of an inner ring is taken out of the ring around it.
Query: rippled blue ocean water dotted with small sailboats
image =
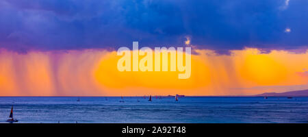
[[[0,123],[308,123],[308,97],[0,97]],[[124,101],[124,102],[120,102]]]

